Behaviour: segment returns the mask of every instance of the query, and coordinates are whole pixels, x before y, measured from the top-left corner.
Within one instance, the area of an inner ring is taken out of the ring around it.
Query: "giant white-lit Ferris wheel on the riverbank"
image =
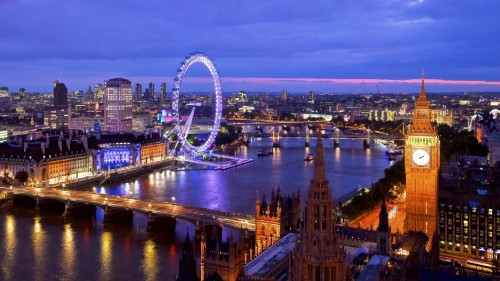
[[[183,112],[180,112],[180,106],[179,106],[179,99],[180,99],[179,96],[180,96],[182,80],[184,79],[184,76],[186,75],[186,72],[188,71],[189,67],[191,67],[195,63],[202,63],[208,68],[214,80],[214,87],[215,87],[215,103],[214,103],[215,118],[213,126],[210,130],[210,135],[208,136],[207,140],[199,146],[195,146],[189,143],[187,141],[187,136],[189,135],[189,130],[191,128],[191,123],[193,121],[195,108],[197,106],[200,106],[200,104],[199,103],[188,104],[188,106],[192,106],[191,113],[189,114],[188,118],[185,120],[185,123],[183,125],[181,125],[181,122],[184,121],[182,116]],[[177,70],[177,76],[175,77],[174,81],[175,85],[174,88],[172,89],[173,91],[172,114],[173,114],[174,132],[177,134],[178,137],[174,150],[180,143],[182,150],[186,153],[203,154],[206,151],[210,150],[215,141],[215,137],[217,136],[217,133],[219,132],[220,129],[220,120],[222,117],[222,89],[221,89],[219,74],[217,73],[217,69],[215,69],[215,65],[213,64],[213,62],[205,54],[192,53],[186,57],[185,61],[181,63],[181,67]]]

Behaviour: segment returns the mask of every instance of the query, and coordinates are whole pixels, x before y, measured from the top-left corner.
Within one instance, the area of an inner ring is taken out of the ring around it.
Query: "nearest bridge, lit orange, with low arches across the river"
[[[35,209],[63,210],[64,216],[70,216],[73,212],[95,216],[95,211],[100,208],[104,211],[104,221],[114,222],[119,219],[131,218],[134,213],[142,214],[148,219],[148,229],[155,230],[156,226],[163,225],[175,227],[175,220],[181,219],[191,222],[196,227],[202,225],[224,225],[240,229],[255,230],[255,220],[252,215],[231,213],[219,210],[211,210],[195,206],[187,206],[174,202],[157,202],[134,197],[123,197],[109,194],[98,194],[88,191],[62,190],[52,188],[32,187],[0,187],[2,199],[10,199],[13,204],[16,201],[29,202]]]

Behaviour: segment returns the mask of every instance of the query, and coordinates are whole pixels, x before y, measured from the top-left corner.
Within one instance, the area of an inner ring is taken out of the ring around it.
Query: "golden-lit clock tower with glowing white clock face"
[[[432,241],[437,223],[440,144],[431,125],[431,107],[425,94],[423,71],[413,124],[405,138],[405,232],[422,231]]]

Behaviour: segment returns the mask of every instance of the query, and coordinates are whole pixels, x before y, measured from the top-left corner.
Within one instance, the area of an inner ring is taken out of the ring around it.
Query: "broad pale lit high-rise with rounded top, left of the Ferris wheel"
[[[132,131],[132,84],[123,78],[104,81],[104,131]]]

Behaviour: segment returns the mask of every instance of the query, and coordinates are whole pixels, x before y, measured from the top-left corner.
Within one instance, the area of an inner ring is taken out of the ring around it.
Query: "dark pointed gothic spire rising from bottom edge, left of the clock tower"
[[[347,280],[346,252],[335,233],[333,210],[323,140],[318,133],[314,175],[306,197],[304,224],[290,258],[289,280]]]

